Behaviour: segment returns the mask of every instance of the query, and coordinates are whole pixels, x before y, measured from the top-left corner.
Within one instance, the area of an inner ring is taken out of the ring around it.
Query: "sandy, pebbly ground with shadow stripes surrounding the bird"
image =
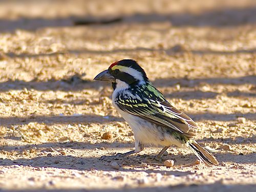
[[[1,191],[255,191],[255,1],[1,1]],[[219,166],[134,147],[93,77],[123,58],[198,124]],[[111,138],[102,139],[105,132]],[[143,156],[144,155],[144,156]],[[116,164],[116,167],[111,166]]]

